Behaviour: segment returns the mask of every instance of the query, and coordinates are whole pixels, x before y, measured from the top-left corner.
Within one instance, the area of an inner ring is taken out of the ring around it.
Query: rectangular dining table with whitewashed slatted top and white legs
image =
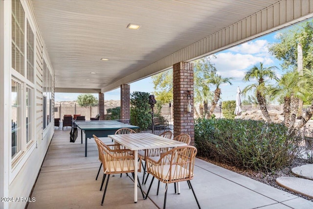
[[[134,159],[138,159],[138,150],[186,146],[186,143],[166,139],[151,133],[108,135],[109,138],[134,151]],[[138,163],[134,163],[134,203],[137,203]],[[140,183],[139,183],[140,184]]]

